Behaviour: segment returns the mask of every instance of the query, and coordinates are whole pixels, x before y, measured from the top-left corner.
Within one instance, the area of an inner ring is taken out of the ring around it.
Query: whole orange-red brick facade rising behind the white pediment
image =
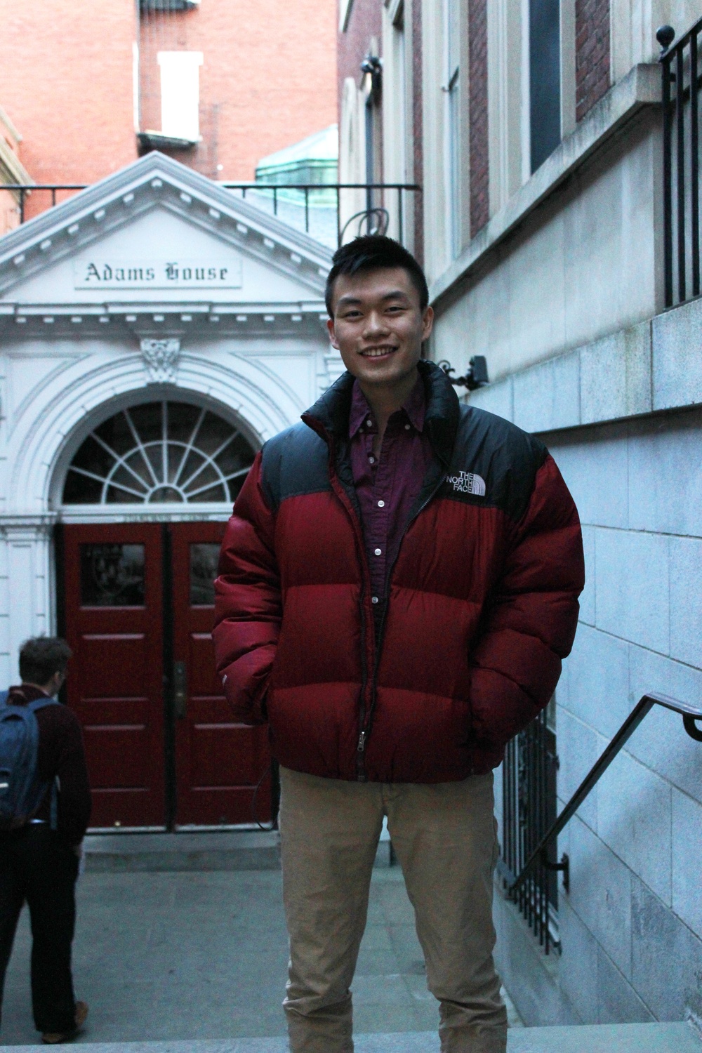
[[[337,0],[206,0],[141,13],[135,0],[0,0],[0,102],[21,128],[37,182],[92,183],[159,131],[159,51],[199,51],[202,142],[174,157],[220,179],[254,178],[259,158],[334,123]],[[221,167],[218,167],[221,165]],[[35,192],[28,214],[49,204]]]

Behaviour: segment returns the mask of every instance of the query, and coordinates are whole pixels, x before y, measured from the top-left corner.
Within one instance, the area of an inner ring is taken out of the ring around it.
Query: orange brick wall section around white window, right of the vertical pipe
[[[202,142],[173,156],[210,178],[253,179],[261,157],[336,121],[337,19],[337,0],[207,0],[142,15],[142,130],[161,127],[158,52],[202,52]]]

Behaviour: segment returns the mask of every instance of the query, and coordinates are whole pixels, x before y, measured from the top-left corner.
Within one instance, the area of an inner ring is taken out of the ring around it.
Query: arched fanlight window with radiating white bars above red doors
[[[64,504],[233,501],[254,460],[233,424],[186,402],[122,410],[71,462]]]

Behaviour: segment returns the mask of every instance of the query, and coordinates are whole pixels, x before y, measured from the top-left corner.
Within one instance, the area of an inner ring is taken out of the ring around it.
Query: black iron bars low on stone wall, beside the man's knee
[[[502,845],[498,872],[505,890],[556,819],[556,733],[554,702],[508,744],[502,768]],[[516,901],[546,954],[560,950],[558,865],[540,859],[516,894]]]

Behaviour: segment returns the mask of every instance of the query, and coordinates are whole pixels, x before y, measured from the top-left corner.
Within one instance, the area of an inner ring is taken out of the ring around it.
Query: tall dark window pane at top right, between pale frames
[[[529,0],[529,138],[536,172],[561,141],[560,0]]]

